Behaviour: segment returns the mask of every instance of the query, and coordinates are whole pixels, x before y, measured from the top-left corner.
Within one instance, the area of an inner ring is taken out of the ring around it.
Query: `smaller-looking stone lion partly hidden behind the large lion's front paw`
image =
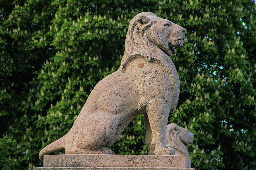
[[[175,155],[186,156],[186,167],[191,168],[191,160],[187,151],[187,146],[193,142],[194,134],[187,129],[179,127],[175,123],[167,125],[166,147],[175,149]]]

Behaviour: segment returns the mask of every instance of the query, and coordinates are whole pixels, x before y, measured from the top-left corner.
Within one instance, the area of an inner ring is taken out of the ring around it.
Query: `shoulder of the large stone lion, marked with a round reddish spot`
[[[148,99],[159,97],[172,102],[177,89],[172,76],[158,63],[135,58],[129,62],[126,73],[137,86],[139,93]]]

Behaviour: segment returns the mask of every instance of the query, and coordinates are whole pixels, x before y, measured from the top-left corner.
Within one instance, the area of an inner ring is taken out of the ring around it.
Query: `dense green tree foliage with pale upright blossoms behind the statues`
[[[181,93],[169,123],[195,134],[196,169],[254,169],[254,1],[0,0],[0,167],[42,166],[40,149],[72,127],[94,86],[116,71],[131,19],[150,11],[188,33],[172,60]],[[143,116],[112,149],[147,154]]]

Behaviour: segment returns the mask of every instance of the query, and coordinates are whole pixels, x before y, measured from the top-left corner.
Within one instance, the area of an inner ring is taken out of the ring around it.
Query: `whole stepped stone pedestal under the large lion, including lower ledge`
[[[195,170],[185,156],[173,155],[45,155],[44,167],[33,170]]]

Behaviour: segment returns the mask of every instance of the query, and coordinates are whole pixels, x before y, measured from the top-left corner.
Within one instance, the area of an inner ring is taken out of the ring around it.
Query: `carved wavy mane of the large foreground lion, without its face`
[[[156,27],[159,25],[154,24],[155,20],[160,19],[162,18],[151,12],[142,12],[131,20],[125,40],[125,54],[120,66],[123,71],[129,61],[137,57],[144,57],[147,61],[162,65],[167,73],[176,71],[174,63],[165,54],[167,51],[176,54],[175,48],[169,48],[168,43],[164,42],[162,35],[157,32]],[[144,24],[139,25],[140,22]]]

